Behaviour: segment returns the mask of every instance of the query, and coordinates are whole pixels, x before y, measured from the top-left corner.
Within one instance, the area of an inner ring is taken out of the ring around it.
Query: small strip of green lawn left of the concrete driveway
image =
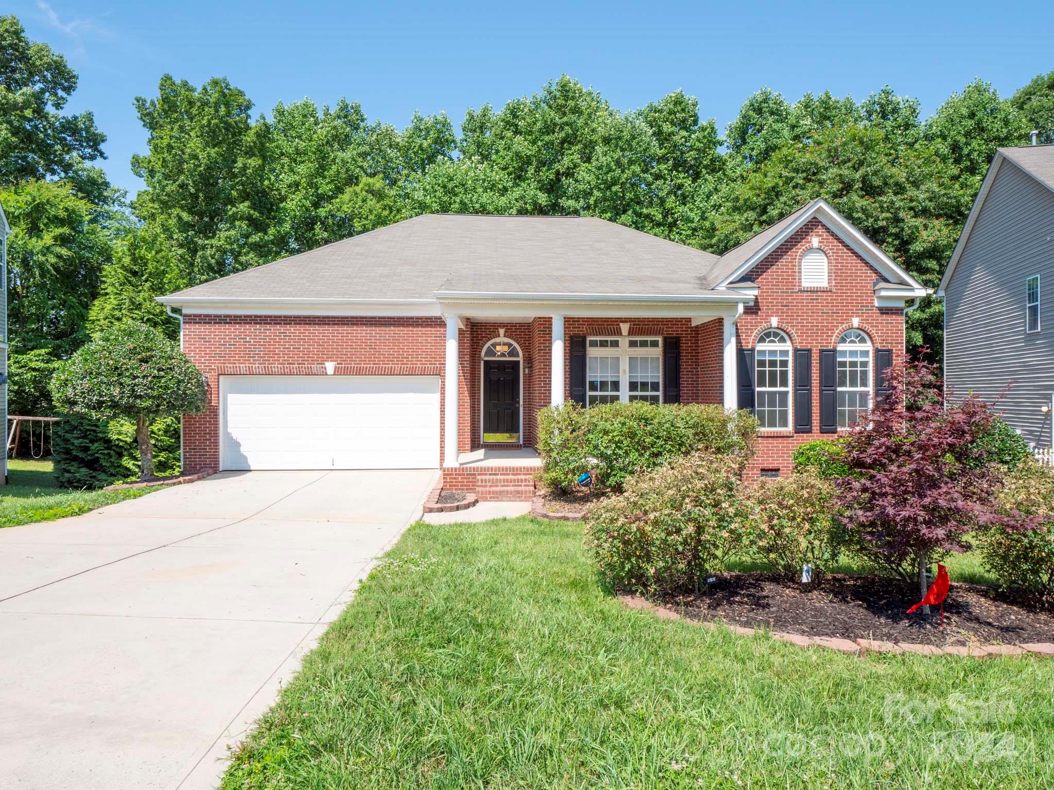
[[[0,488],[0,528],[79,516],[90,510],[157,491],[74,491],[55,486],[50,460],[8,459],[8,485]]]

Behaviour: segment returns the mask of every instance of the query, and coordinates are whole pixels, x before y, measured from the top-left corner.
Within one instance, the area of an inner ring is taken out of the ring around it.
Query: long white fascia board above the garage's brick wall
[[[253,299],[159,296],[157,301],[181,308],[183,315],[348,315],[438,316],[434,299]]]

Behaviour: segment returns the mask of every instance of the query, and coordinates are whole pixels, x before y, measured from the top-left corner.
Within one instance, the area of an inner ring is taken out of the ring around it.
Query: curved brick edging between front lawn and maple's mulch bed
[[[734,634],[739,634],[740,636],[754,636],[758,633],[765,633],[762,629],[710,623],[708,620],[694,620],[671,609],[652,604],[640,595],[620,594],[619,600],[630,609],[651,612],[664,620],[684,620],[709,629],[724,626]],[[797,645],[799,648],[827,648],[856,656],[861,656],[867,651],[873,653],[918,653],[919,655],[965,655],[973,656],[974,658],[1000,655],[1054,656],[1054,644],[1049,641],[1032,641],[1024,645],[950,645],[945,648],[938,648],[936,645],[917,645],[910,641],[893,643],[881,639],[842,639],[837,636],[805,636],[804,634],[787,634],[780,631],[770,631],[768,634],[778,641],[787,641],[792,645]]]

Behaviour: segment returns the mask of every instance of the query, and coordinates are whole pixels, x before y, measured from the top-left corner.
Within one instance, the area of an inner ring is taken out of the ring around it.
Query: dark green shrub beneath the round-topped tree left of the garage
[[[123,458],[134,453],[132,438],[115,437],[110,426],[91,417],[63,414],[55,423],[55,482],[64,489],[97,489],[125,479]]]

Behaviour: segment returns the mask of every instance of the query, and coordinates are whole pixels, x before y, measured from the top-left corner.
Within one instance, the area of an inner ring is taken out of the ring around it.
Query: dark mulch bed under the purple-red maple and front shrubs
[[[906,614],[920,597],[913,587],[877,576],[832,575],[807,589],[774,574],[726,573],[706,593],[662,603],[688,619],[806,636],[937,647],[1054,641],[1054,616],[1011,603],[992,588],[953,582],[943,629],[937,607],[929,619],[921,610]]]

